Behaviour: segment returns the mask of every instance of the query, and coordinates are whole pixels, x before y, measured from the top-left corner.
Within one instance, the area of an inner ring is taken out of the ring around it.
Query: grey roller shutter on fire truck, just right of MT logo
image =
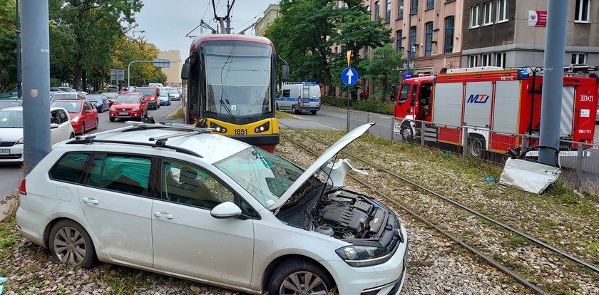
[[[518,114],[522,111],[518,109],[521,107],[520,95],[522,95],[521,81],[497,81],[495,83],[493,131],[518,133]],[[523,123],[520,122],[520,124]]]

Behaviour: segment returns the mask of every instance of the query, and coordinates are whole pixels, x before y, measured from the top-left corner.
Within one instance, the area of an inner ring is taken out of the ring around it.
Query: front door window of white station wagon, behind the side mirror
[[[233,192],[198,167],[164,160],[162,175],[164,200],[206,209],[213,209],[222,202],[235,202]]]

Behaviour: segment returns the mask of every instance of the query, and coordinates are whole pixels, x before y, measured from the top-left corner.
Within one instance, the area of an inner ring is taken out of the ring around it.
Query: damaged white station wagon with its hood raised
[[[371,126],[305,171],[190,125],[66,141],[22,180],[19,232],[83,267],[99,260],[251,294],[399,294],[406,229],[327,166]]]

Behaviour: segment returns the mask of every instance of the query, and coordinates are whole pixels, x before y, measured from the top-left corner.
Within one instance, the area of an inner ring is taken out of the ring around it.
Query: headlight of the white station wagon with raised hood
[[[335,252],[344,262],[354,267],[373,266],[391,259],[391,252],[384,247],[350,245]]]

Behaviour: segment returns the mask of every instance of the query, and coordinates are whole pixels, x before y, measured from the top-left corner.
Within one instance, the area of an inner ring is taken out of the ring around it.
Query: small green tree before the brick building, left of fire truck
[[[364,59],[359,63],[362,78],[372,78],[377,97],[386,100],[391,93],[391,84],[399,81],[398,68],[404,63],[401,52],[395,51],[391,43],[374,48],[369,51],[371,59]]]

